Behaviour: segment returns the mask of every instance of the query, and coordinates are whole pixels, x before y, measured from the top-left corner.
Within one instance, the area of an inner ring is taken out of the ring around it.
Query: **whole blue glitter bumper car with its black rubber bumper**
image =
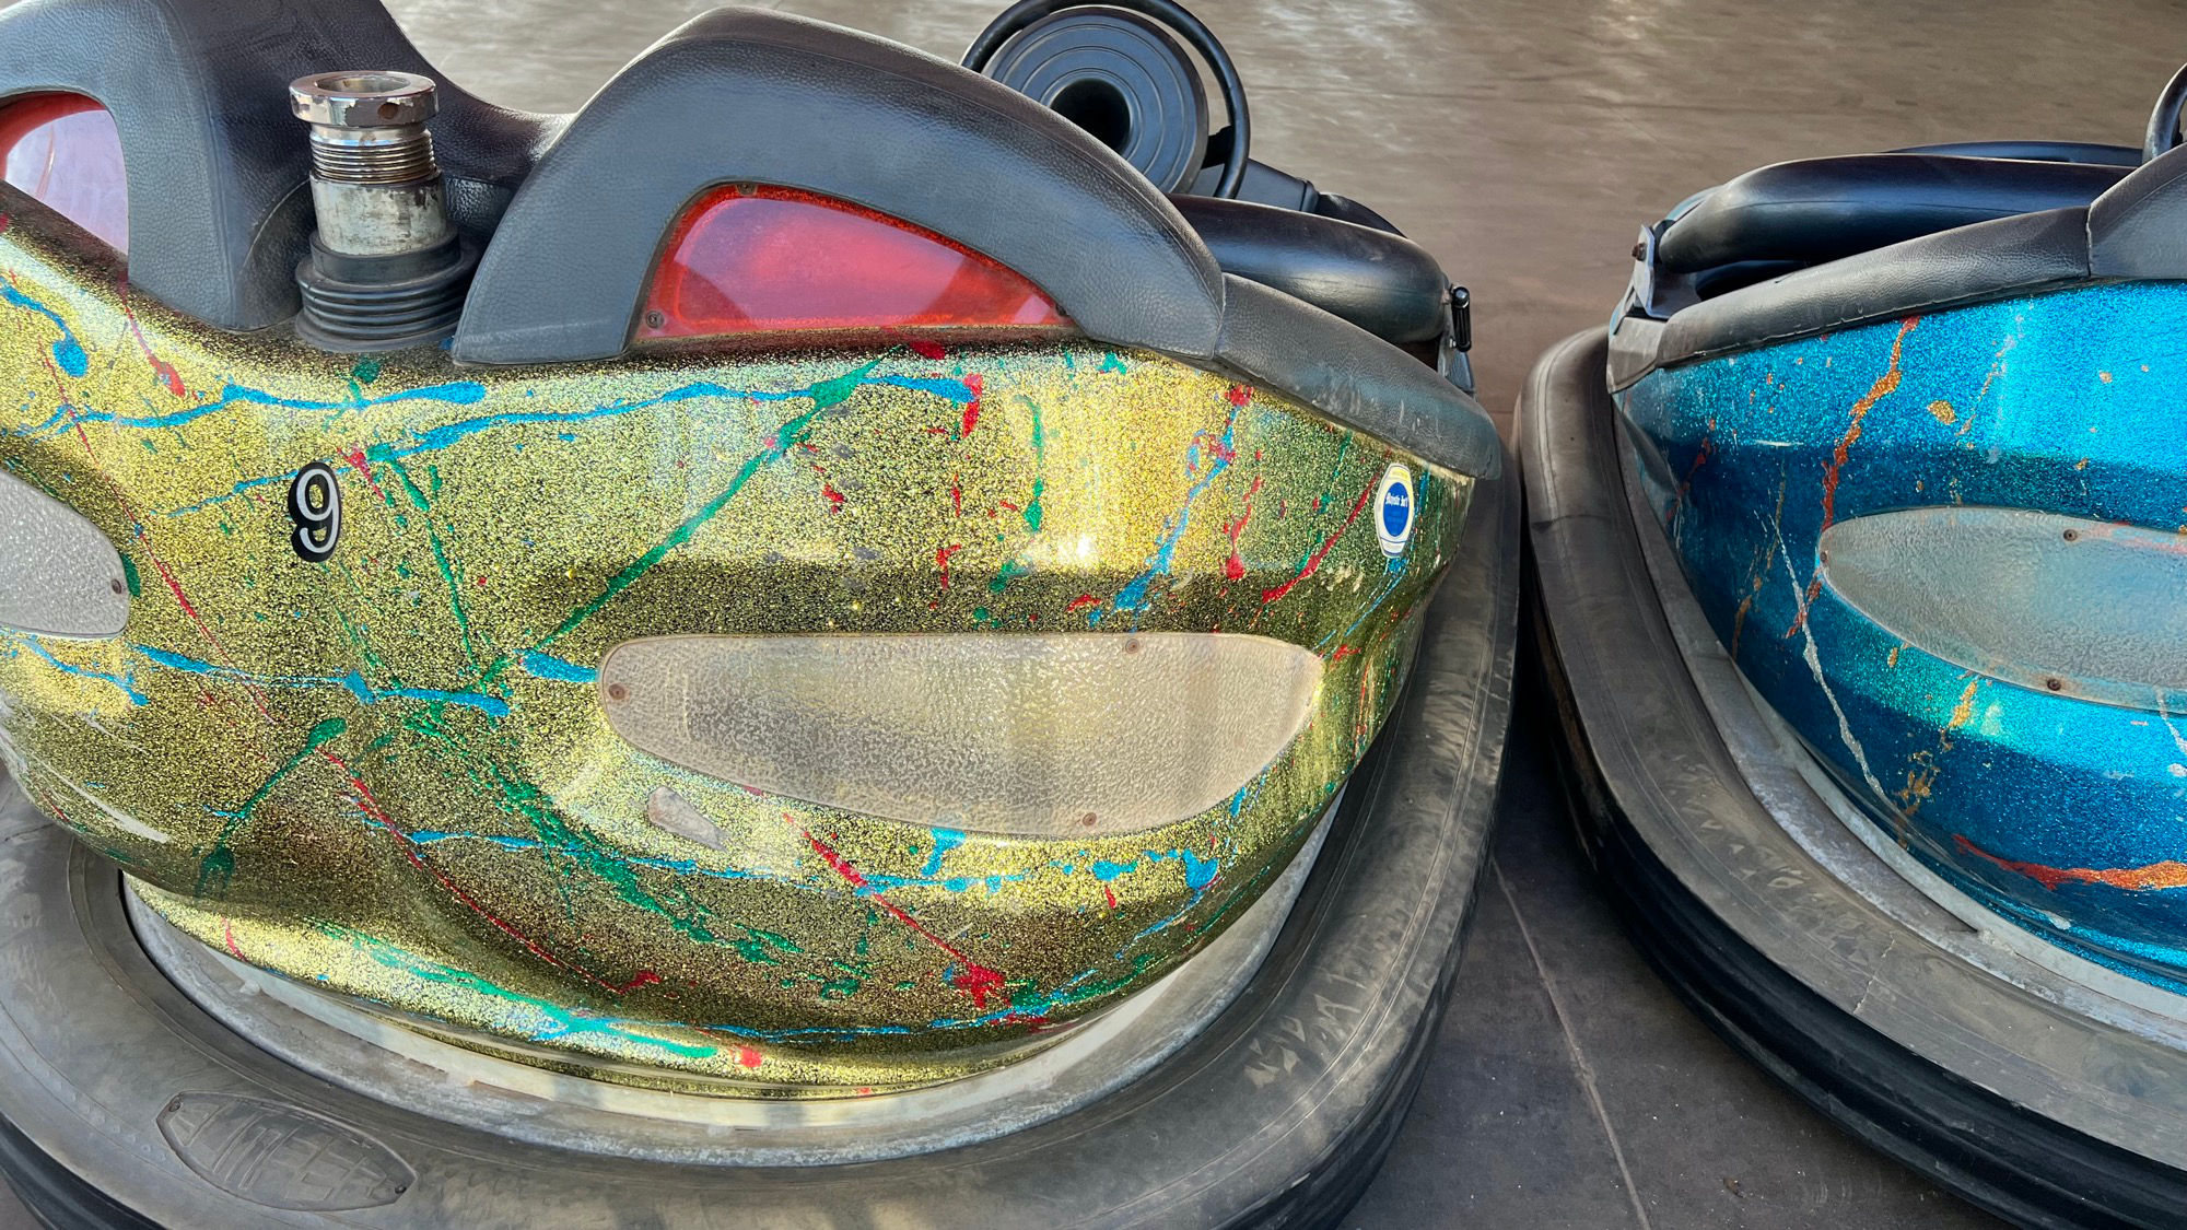
[[[2025,1226],[2187,1215],[2183,81],[2139,151],[1697,193],[1520,403],[1555,744],[1638,943]]]

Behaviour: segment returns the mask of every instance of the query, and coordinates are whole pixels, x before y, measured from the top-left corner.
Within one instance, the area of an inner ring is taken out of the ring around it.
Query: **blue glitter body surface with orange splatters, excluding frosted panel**
[[[2183,313],[2180,282],[2071,289],[1708,359],[1618,394],[1642,490],[1717,637],[1874,823],[2027,930],[2178,991],[2187,694],[2104,705],[1953,665],[1844,602],[1820,536],[1935,506],[2187,534]]]

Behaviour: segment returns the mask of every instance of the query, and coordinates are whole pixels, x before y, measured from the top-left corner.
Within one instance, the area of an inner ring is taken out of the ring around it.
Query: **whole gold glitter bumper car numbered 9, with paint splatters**
[[[33,0],[0,153],[48,1217],[1356,1195],[1481,858],[1516,497],[1463,291],[1249,155],[1190,13],[954,66],[726,9],[527,116],[374,0]]]

